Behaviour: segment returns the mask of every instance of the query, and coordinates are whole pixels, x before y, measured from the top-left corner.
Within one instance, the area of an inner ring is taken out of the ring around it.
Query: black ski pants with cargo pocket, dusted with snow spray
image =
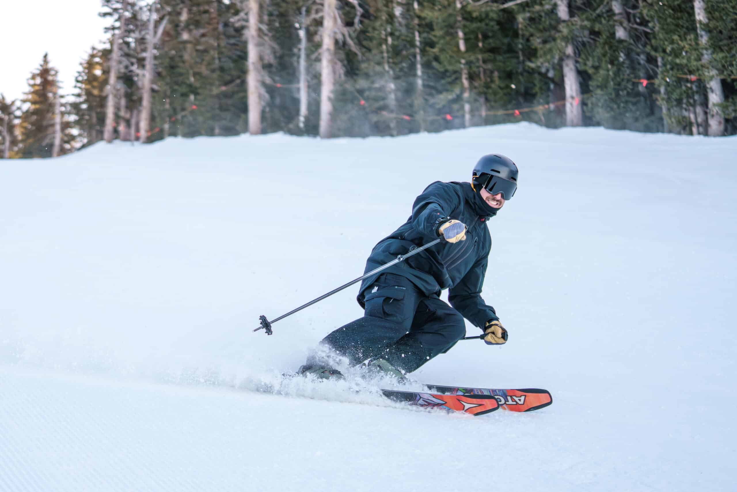
[[[363,317],[321,342],[352,365],[378,356],[411,373],[466,334],[461,313],[437,297],[427,297],[401,275],[381,274],[364,294]]]

